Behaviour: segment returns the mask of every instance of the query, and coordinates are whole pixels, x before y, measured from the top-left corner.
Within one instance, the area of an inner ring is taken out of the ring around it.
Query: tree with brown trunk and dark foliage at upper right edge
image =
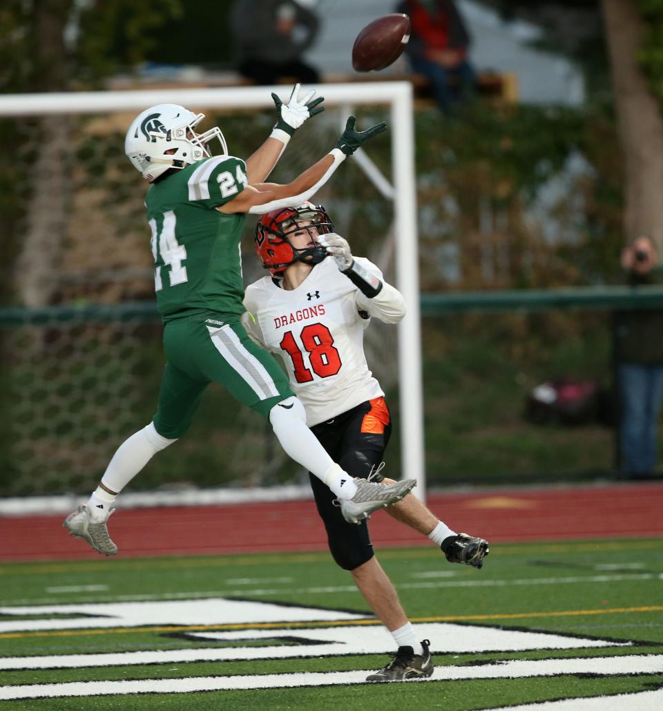
[[[624,166],[624,238],[644,232],[663,250],[663,118],[657,101],[663,98],[663,0],[483,1],[505,16],[544,26],[549,41],[559,41],[590,69],[590,85],[596,55],[583,49],[595,39],[595,25],[577,20],[600,17]]]

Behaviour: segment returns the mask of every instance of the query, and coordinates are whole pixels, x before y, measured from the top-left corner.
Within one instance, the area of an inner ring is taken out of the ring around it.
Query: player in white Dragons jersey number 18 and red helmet
[[[368,368],[363,338],[372,316],[387,324],[403,318],[403,297],[372,262],[352,256],[320,205],[303,203],[263,215],[255,240],[257,255],[271,275],[247,287],[244,328],[281,357],[306,410],[306,423],[332,459],[352,476],[382,480],[379,471],[392,422],[384,392]],[[345,515],[330,491],[309,476],[335,562],[350,571],[399,648],[394,659],[367,680],[430,676],[429,642],[417,641],[392,582],[374,556],[366,519]],[[431,538],[450,562],[482,567],[487,542],[457,534],[414,496],[386,510]]]

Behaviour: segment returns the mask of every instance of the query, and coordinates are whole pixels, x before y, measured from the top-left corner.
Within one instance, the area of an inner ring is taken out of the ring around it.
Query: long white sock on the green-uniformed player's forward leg
[[[296,397],[274,405],[269,422],[286,454],[323,481],[338,498],[352,498],[357,484],[335,464],[318,438],[306,427],[306,411]]]

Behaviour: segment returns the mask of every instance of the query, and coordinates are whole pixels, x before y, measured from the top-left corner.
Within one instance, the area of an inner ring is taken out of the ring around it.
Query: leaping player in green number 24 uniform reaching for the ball
[[[228,155],[217,127],[195,132],[204,114],[175,104],[146,109],[126,133],[126,155],[151,183],[145,204],[166,368],[152,422],[120,445],[87,504],[65,519],[72,535],[103,555],[117,553],[107,520],[118,493],[154,454],[182,437],[212,382],[263,415],[286,454],[337,498],[352,501],[356,523],[400,501],[416,483],[377,483],[346,474],[306,427],[303,405],[276,360],[240,323],[239,241],[247,213],[261,215],[308,200],[347,156],[387,128],[382,123],[357,131],[350,117],[336,146],[316,164],[291,183],[266,183],[293,132],[323,110],[322,97],[314,95],[300,99],[299,85],[286,103],[273,94],[276,125],[246,161]],[[219,156],[207,148],[212,139],[220,141]]]

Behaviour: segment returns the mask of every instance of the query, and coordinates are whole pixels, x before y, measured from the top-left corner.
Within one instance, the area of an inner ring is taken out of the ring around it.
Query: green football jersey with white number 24
[[[217,156],[149,188],[145,205],[152,230],[154,289],[164,321],[245,310],[239,242],[246,215],[225,215],[215,208],[237,197],[247,182],[244,161]]]

